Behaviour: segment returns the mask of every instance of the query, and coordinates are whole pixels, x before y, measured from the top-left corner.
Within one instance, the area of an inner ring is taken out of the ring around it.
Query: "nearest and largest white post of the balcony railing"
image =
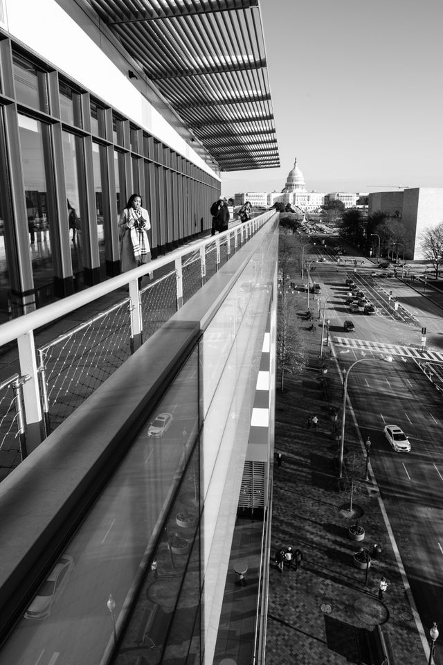
[[[17,346],[19,349],[20,373],[22,376],[27,374],[30,378],[23,386],[23,400],[26,415],[27,447],[28,452],[32,452],[44,439],[33,330],[28,330],[24,335],[17,337]]]

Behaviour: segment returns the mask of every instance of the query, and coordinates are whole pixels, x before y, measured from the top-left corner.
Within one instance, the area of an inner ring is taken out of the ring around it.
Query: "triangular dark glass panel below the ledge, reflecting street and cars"
[[[195,517],[200,511],[198,374],[196,348],[151,416],[154,420],[168,412],[172,423],[161,436],[148,436],[149,423],[142,426],[66,551],[48,570],[46,579],[60,580],[62,592],[53,586],[52,601],[42,597],[42,604],[50,608],[44,617],[21,618],[0,651],[2,665],[55,662],[55,653],[57,665],[100,663],[107,646],[114,644],[114,625],[120,629],[122,613],[128,609],[127,635],[136,645],[130,662],[136,661],[139,648],[143,657],[156,657],[148,663],[159,662],[165,648],[163,616],[174,626],[176,616],[190,614],[185,634],[172,633],[180,649],[189,648],[199,598],[198,520],[183,526],[177,517],[185,508]],[[170,538],[172,533],[179,534],[177,541]],[[183,542],[186,547],[177,551],[175,545]],[[156,580],[161,584],[149,591]],[[141,585],[145,587],[138,594]],[[115,624],[107,606],[110,594],[116,603]],[[41,596],[37,591],[37,601]],[[24,614],[38,611],[36,605],[30,598]],[[153,621],[147,626],[153,607]]]

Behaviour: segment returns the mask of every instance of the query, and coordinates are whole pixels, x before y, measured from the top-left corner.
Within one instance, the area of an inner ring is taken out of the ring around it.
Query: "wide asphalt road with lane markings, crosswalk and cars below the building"
[[[327,256],[328,251],[316,247],[315,253]],[[312,278],[322,285],[320,308],[323,312],[325,307],[330,321],[329,335],[341,370],[360,358],[374,358],[350,372],[348,409],[354,409],[362,440],[370,436],[370,464],[428,639],[433,621],[443,626],[443,393],[424,376],[417,358],[427,353],[443,362],[443,311],[408,284],[371,277],[377,269],[369,261],[354,272],[353,257],[346,258],[348,263],[337,268],[336,257],[329,254],[327,263],[316,264]],[[346,277],[354,278],[376,305],[375,316],[350,314],[344,303]],[[397,310],[395,295],[401,304]],[[352,319],[354,332],[343,330],[345,319]],[[422,326],[427,328],[426,352],[420,351]],[[392,362],[375,360],[388,353]],[[406,432],[410,453],[392,450],[383,436],[387,424]],[[346,427],[352,427],[348,412]],[[435,662],[443,662],[438,640]]]

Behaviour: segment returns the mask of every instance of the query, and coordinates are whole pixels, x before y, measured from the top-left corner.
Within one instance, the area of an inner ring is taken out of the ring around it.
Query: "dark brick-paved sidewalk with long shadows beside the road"
[[[302,296],[298,311],[305,310]],[[385,637],[390,662],[397,665],[425,664],[426,654],[413,610],[392,549],[379,491],[369,481],[354,502],[363,511],[362,542],[350,540],[347,527],[355,517],[345,517],[348,499],[338,492],[337,443],[332,434],[331,406],[340,413],[341,377],[334,360],[323,378],[320,353],[320,321],[315,334],[301,323],[309,365],[277,393],[275,452],[282,452],[281,468],[274,465],[273,526],[266,665],[371,664],[369,645],[377,625]],[[324,385],[325,384],[325,385]],[[329,402],[335,396],[334,403]],[[307,416],[318,416],[316,431],[307,429]],[[349,424],[347,449],[361,456],[364,451],[355,428]],[[342,509],[341,509],[342,508]],[[357,569],[352,554],[363,546],[372,558],[365,587],[365,570]],[[282,574],[273,562],[277,549],[302,550],[304,560],[296,573],[286,567]],[[378,599],[381,576],[388,580],[383,601]],[[381,662],[381,659],[380,661]]]

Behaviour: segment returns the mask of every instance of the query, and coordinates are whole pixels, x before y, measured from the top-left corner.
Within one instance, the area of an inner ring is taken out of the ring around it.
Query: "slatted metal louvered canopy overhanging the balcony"
[[[89,0],[225,171],[280,166],[259,0]]]

